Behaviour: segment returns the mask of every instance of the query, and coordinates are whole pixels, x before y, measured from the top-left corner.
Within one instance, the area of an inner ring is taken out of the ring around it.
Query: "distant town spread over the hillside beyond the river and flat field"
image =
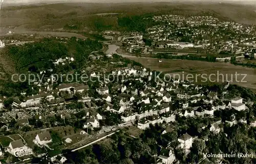
[[[256,57],[256,28],[212,16],[160,15],[146,18],[157,25],[145,32],[104,31],[102,36],[119,41],[129,53],[215,55],[217,61]]]

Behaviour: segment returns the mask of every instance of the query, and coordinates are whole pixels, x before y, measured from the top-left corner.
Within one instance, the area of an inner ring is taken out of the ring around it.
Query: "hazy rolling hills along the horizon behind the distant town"
[[[256,12],[254,10],[255,7],[253,6],[223,3],[67,3],[40,6],[4,6],[0,13],[0,27],[63,30],[67,26],[73,26],[76,27],[74,30],[111,30],[119,29],[117,19],[120,16],[148,13],[212,15],[220,19],[234,20],[250,25],[256,24]]]

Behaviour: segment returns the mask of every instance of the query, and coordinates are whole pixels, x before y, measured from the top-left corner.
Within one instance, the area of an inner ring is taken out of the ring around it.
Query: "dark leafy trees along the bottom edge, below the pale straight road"
[[[194,123],[199,124],[201,121],[194,121]],[[178,129],[182,126],[187,126],[187,129],[190,129],[186,123],[184,125],[178,124]],[[113,142],[106,140],[86,149],[67,153],[66,157],[68,163],[152,163],[152,157],[160,154],[161,147],[171,146],[175,148],[176,158],[182,163],[198,163],[206,153],[236,154],[236,157],[224,158],[227,163],[255,162],[255,158],[239,158],[237,154],[254,153],[256,128],[248,128],[247,125],[238,124],[224,127],[224,132],[213,134],[206,127],[200,133],[203,134],[204,138],[199,136],[198,139],[194,140],[188,155],[185,155],[177,147],[179,145],[177,137],[180,132],[174,129],[172,132],[161,134],[162,130],[161,126],[151,126],[143,131],[138,138],[132,138],[126,132],[121,131],[111,136]],[[217,158],[208,158],[208,160],[216,162]]]

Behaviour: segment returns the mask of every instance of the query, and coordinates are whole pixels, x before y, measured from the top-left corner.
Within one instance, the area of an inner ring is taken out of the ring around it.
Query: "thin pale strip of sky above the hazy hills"
[[[0,0],[1,1],[1,0]],[[39,3],[129,3],[129,2],[233,2],[236,4],[256,4],[256,0],[4,0],[4,4],[39,4]]]

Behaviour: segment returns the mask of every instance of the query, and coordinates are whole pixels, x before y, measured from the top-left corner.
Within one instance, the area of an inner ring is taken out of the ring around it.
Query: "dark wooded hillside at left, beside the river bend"
[[[39,69],[53,68],[51,61],[61,57],[74,57],[79,64],[87,59],[92,51],[101,48],[102,44],[90,39],[72,37],[66,42],[61,42],[56,38],[44,38],[23,46],[9,46],[7,52],[15,62],[17,71],[28,67],[29,71],[37,72]]]

